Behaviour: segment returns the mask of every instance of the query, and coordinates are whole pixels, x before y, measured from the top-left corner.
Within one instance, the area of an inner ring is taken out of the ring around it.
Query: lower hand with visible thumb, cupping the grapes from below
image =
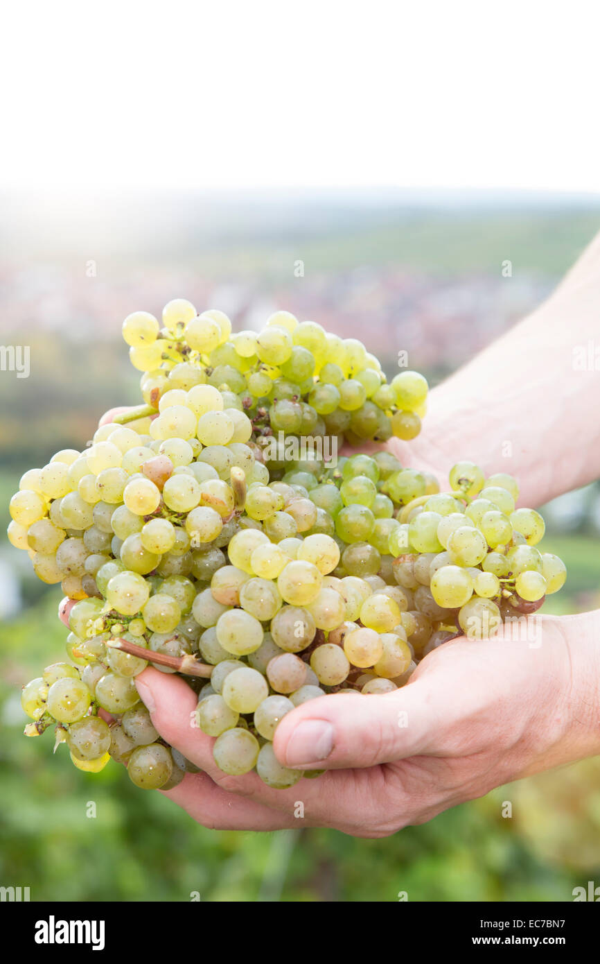
[[[194,692],[148,668],[136,683],[155,727],[204,771],[166,795],[213,828],[275,830],[298,826],[300,815],[305,825],[378,838],[598,753],[600,612],[532,626],[530,640],[504,628],[490,640],[446,643],[384,696],[330,695],[288,713],[274,739],[279,761],[327,770],[290,790],[255,773],[223,774],[214,740],[192,725]]]

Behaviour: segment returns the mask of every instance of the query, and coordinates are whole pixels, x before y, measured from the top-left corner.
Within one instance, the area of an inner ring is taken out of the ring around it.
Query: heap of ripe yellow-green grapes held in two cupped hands
[[[318,774],[278,763],[287,712],[391,692],[431,650],[493,635],[561,588],[511,476],[461,462],[440,493],[384,448],[327,462],[288,444],[414,438],[417,372],[388,385],[359,341],[285,311],[232,335],[221,311],[177,299],[162,329],[138,311],[123,336],[143,405],[25,472],[11,500],[13,546],[75,601],[70,662],[23,688],[25,733],[54,726],[80,769],[113,758],[163,790],[195,769],[139,699],[152,663],[195,690],[192,723],[223,772],[291,787]]]

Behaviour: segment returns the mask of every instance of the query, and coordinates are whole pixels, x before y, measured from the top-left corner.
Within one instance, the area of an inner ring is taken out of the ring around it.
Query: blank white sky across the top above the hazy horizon
[[[13,2],[0,186],[600,192],[595,6]]]

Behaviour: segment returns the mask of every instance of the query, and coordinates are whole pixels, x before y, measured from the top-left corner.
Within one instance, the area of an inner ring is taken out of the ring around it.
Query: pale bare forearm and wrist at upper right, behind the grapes
[[[600,235],[547,302],[431,391],[412,444],[415,464],[508,471],[532,506],[600,475]]]

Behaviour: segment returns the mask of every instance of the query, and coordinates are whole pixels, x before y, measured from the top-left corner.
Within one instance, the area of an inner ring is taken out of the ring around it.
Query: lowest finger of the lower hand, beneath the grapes
[[[285,830],[298,820],[219,787],[206,773],[188,773],[165,796],[212,830]]]

